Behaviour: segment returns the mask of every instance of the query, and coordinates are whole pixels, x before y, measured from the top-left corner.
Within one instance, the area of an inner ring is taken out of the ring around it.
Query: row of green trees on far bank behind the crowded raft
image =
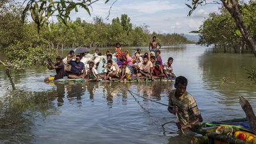
[[[77,18],[75,21],[68,21],[66,25],[52,24],[51,31],[43,27],[40,35],[57,48],[110,47],[115,46],[117,42],[122,46],[148,46],[152,36],[157,36],[158,41],[164,45],[189,42],[182,34],[150,34],[148,25],[132,27],[127,15],[121,17],[123,22],[117,17],[111,24],[104,23],[101,17],[95,17],[93,23]]]

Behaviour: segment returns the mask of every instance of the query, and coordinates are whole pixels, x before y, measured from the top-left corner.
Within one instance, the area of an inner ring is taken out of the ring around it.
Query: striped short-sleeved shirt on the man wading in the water
[[[200,110],[194,98],[185,92],[181,97],[175,97],[175,89],[169,94],[169,105],[177,105],[178,118],[184,125],[190,123],[200,116]]]

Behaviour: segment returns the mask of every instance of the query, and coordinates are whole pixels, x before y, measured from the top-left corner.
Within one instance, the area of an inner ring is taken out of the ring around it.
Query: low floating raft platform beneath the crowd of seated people
[[[131,78],[131,79],[126,79],[124,81],[120,81],[120,79],[112,79],[111,81],[107,80],[104,81],[104,79],[99,79],[101,82],[145,82],[145,81],[152,81],[151,78]],[[175,78],[160,78],[160,79],[155,79],[155,81],[169,81],[169,82],[175,82]],[[57,79],[53,82],[63,82],[63,83],[82,83],[85,82],[85,79],[83,78],[78,78],[78,79],[69,79],[69,78],[63,78],[63,79]]]

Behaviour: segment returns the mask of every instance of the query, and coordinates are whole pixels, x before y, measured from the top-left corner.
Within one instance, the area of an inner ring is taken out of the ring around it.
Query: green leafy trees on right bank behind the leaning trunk
[[[248,27],[252,37],[256,36],[256,7],[254,4],[243,4],[241,12],[245,24]],[[215,48],[228,47],[233,52],[243,52],[248,49],[245,40],[241,37],[241,33],[236,27],[235,21],[225,8],[220,8],[219,13],[209,14],[209,18],[204,20],[199,31],[193,31],[200,34],[199,44],[207,45],[215,44]]]

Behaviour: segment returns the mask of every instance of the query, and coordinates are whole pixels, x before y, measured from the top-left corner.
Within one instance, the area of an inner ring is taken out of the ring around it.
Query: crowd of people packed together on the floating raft
[[[107,50],[104,56],[99,49],[95,49],[94,54],[80,53],[79,55],[75,55],[71,50],[64,59],[57,56],[55,65],[49,60],[49,69],[56,69],[57,74],[44,81],[62,79],[64,76],[71,79],[85,78],[86,81],[98,81],[100,78],[110,81],[145,77],[152,81],[158,78],[175,78],[172,69],[174,59],[169,57],[167,63],[163,63],[159,50],[161,45],[154,43],[154,40],[155,37],[149,45],[150,53],[142,54],[141,49],[137,49],[132,57],[128,50],[121,49],[120,43],[116,43],[114,54]]]

